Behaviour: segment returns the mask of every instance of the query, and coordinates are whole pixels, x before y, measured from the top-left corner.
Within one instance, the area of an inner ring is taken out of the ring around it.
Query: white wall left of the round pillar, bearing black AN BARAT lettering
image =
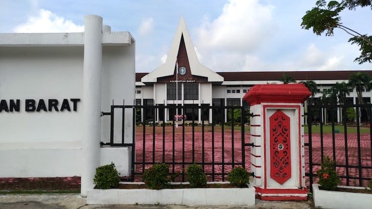
[[[83,47],[0,47],[0,177],[80,175],[82,102],[77,111],[26,112],[25,99],[82,98]]]

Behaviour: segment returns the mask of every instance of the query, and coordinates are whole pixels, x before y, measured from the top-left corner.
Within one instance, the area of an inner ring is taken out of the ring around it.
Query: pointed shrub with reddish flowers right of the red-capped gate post
[[[329,156],[325,155],[321,169],[316,173],[319,177],[319,185],[324,190],[334,190],[340,184],[340,177],[337,176],[335,163],[330,160]]]

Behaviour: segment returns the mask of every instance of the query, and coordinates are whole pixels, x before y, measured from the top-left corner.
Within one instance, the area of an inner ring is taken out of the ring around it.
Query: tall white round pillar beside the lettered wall
[[[81,196],[94,188],[93,178],[100,166],[102,17],[85,16],[84,26]]]

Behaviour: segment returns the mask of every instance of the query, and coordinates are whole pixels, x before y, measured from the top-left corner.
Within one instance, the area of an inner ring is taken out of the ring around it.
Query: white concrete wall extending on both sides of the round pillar
[[[134,43],[103,46],[102,111],[110,112],[112,99],[115,105],[124,98],[133,104],[134,51]],[[82,45],[0,47],[0,100],[9,105],[9,99],[20,99],[19,112],[0,113],[0,177],[81,175],[82,90]],[[48,99],[58,99],[60,109],[62,100],[71,98],[81,99],[77,111],[71,101],[71,112],[25,111],[25,99],[44,99],[47,108]],[[126,143],[132,140],[131,111],[125,113]],[[121,142],[121,115],[115,111],[115,142]],[[103,141],[109,140],[109,118],[101,118]]]

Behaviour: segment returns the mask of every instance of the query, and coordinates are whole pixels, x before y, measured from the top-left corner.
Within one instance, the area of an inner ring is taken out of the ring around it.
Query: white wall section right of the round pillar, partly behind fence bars
[[[110,112],[112,100],[114,105],[133,105],[135,99],[135,46],[104,46],[102,49],[102,111]],[[122,142],[121,109],[114,110],[114,143]],[[101,139],[110,141],[110,117],[101,118]],[[125,111],[125,143],[132,142],[132,109]]]

